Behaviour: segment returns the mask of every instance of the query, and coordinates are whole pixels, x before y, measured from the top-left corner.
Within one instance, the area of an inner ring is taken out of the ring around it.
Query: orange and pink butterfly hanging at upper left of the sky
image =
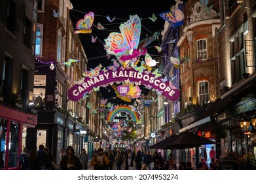
[[[77,31],[78,33],[92,33],[92,24],[94,23],[94,12],[88,12],[88,14],[84,15],[84,19],[80,19],[77,22]]]

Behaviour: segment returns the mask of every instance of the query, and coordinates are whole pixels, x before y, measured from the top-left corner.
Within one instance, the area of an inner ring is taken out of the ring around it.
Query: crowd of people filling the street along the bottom
[[[214,155],[214,154],[213,154]],[[168,159],[164,159],[161,152],[155,152],[151,156],[151,151],[146,153],[138,150],[136,153],[132,150],[109,150],[103,152],[103,148],[99,148],[92,152],[92,161],[90,165],[95,170],[113,170],[113,165],[117,165],[117,170],[172,170],[172,169],[198,169],[198,170],[218,170],[221,169],[219,159],[211,157],[210,166],[206,163],[204,158],[201,159],[197,167],[192,167],[191,161],[180,162],[178,166],[175,165],[175,159],[172,154]],[[50,154],[47,147],[41,144],[39,150],[31,150],[29,154],[24,148],[20,155],[21,169],[28,170],[86,170],[88,169],[88,154],[85,149],[82,149],[81,154],[75,155],[73,146],[67,146],[60,152],[60,163],[56,162],[56,158]]]

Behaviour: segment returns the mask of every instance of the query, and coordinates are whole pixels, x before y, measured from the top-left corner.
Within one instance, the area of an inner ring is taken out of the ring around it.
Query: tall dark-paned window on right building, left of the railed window
[[[232,84],[243,78],[246,73],[244,56],[244,33],[241,29],[229,42],[230,44],[230,65]]]

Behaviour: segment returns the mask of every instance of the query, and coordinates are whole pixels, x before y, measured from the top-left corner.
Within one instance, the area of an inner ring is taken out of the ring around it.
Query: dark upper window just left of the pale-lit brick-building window
[[[24,16],[24,23],[23,23],[23,43],[27,48],[31,48],[31,35],[32,33],[32,22]]]

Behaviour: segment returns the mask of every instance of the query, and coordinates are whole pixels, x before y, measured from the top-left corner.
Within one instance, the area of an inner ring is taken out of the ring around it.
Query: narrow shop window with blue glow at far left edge
[[[7,120],[0,119],[0,169],[5,167]]]

